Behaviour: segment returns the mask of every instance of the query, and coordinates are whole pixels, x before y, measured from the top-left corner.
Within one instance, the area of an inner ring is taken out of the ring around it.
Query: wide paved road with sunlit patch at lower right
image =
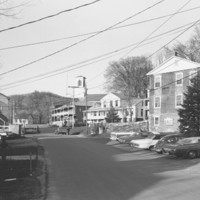
[[[100,139],[41,140],[47,200],[199,200],[200,159],[175,159]]]

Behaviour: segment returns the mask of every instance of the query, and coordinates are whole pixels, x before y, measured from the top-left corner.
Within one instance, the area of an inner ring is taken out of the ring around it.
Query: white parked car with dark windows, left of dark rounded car
[[[161,134],[153,134],[148,136],[147,138],[140,140],[131,140],[131,146],[141,148],[141,149],[149,149],[151,150],[154,145],[163,137]]]

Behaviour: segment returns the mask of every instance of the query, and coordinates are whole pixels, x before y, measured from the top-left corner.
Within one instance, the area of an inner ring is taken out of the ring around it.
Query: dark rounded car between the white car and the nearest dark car
[[[178,142],[179,140],[183,139],[184,136],[181,134],[172,134],[172,135],[166,135],[162,137],[154,146],[153,150],[157,153],[162,153],[162,149],[167,144],[174,144]]]

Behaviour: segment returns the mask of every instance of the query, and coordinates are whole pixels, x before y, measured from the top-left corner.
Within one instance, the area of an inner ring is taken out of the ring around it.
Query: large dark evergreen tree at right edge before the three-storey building
[[[178,110],[179,129],[186,136],[200,136],[200,74],[191,79]]]

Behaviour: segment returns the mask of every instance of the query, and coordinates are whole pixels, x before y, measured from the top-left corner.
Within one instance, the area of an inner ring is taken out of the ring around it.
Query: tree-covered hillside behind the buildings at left
[[[50,119],[50,108],[53,105],[69,103],[71,98],[35,91],[30,94],[10,96],[10,100],[15,118],[27,119],[31,116],[34,124],[46,124]]]

